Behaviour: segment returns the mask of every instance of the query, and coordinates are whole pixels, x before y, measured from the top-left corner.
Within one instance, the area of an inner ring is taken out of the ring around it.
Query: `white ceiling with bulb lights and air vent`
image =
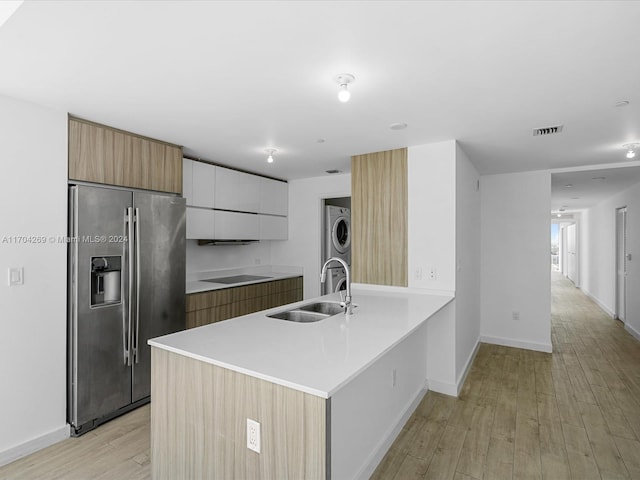
[[[447,139],[489,174],[624,161],[638,58],[631,1],[27,1],[0,93],[287,179]]]

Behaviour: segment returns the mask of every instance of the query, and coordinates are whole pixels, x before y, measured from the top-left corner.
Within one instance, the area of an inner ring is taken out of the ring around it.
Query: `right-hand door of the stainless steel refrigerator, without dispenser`
[[[133,401],[151,394],[151,348],[147,340],[185,328],[185,200],[135,192],[137,347]]]

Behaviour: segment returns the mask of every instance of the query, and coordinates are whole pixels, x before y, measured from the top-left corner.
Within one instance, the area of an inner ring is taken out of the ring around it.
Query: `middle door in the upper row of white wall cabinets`
[[[215,208],[260,211],[260,178],[228,168],[216,168]]]

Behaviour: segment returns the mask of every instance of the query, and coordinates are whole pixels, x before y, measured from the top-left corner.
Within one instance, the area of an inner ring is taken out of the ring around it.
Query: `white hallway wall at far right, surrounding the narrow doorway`
[[[640,184],[582,213],[580,224],[581,288],[609,314],[615,311],[616,208],[627,207],[626,327],[640,338]]]

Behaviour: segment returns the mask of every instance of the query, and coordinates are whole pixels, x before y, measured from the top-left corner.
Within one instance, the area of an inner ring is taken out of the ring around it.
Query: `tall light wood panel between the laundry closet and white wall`
[[[353,281],[406,287],[407,149],[351,157]]]

